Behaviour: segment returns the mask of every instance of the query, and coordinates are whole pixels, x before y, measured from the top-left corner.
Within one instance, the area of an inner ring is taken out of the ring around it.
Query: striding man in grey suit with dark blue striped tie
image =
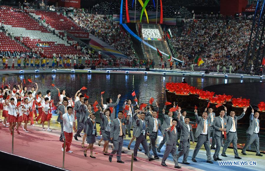
[[[145,150],[145,154],[147,155],[149,161],[155,160],[150,155],[148,145],[147,145],[147,140],[146,140],[147,122],[145,121],[145,113],[144,112],[142,112],[141,115],[139,116],[139,118],[136,120],[136,126],[137,126],[136,131],[135,131],[136,142],[135,142],[135,146],[133,149],[133,156],[134,156],[133,160],[137,161],[137,159],[135,157],[137,157],[137,151],[138,151],[138,147],[140,146],[140,144],[142,144],[142,146]]]

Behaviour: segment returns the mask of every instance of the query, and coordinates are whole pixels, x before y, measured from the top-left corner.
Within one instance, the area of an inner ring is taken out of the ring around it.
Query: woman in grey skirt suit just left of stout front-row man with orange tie
[[[110,116],[111,111],[110,108],[106,108],[104,111],[104,115],[102,113],[102,108],[100,108],[100,118],[102,120],[101,122],[101,134],[104,140],[104,146],[103,146],[103,153],[108,153],[109,148],[109,141],[110,141],[110,126],[113,121],[113,118]]]

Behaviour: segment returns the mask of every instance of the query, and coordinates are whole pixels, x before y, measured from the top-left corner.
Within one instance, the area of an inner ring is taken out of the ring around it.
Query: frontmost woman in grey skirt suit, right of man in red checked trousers
[[[97,137],[97,128],[96,128],[96,121],[94,113],[90,113],[87,119],[87,149],[84,150],[84,156],[87,157],[87,150],[90,149],[90,157],[96,158],[93,156],[93,145],[96,142]]]

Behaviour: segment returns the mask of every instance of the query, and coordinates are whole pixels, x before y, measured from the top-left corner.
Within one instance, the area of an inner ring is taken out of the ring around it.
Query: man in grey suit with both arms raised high
[[[237,153],[237,131],[236,130],[237,130],[237,120],[243,118],[243,116],[245,115],[246,109],[247,108],[244,107],[243,113],[240,116],[235,116],[235,111],[231,111],[230,116],[226,116],[226,112],[225,112],[224,118],[227,120],[227,126],[226,126],[227,131],[226,131],[226,142],[223,146],[223,152],[221,154],[223,157],[227,157],[226,149],[232,142],[234,153],[235,153],[235,158],[242,159],[241,157],[238,156],[238,153]],[[225,111],[226,111],[226,107],[225,107]]]

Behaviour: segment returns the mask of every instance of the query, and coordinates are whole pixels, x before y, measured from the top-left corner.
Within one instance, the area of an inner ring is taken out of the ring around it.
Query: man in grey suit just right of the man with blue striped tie
[[[157,116],[157,111],[153,111],[152,116],[148,116],[146,121],[148,122],[147,126],[147,134],[150,138],[150,144],[149,146],[149,151],[152,149],[154,153],[154,158],[159,159],[156,148],[155,148],[155,140],[157,139],[158,136],[158,129],[161,131],[161,121],[160,119],[156,118]]]

